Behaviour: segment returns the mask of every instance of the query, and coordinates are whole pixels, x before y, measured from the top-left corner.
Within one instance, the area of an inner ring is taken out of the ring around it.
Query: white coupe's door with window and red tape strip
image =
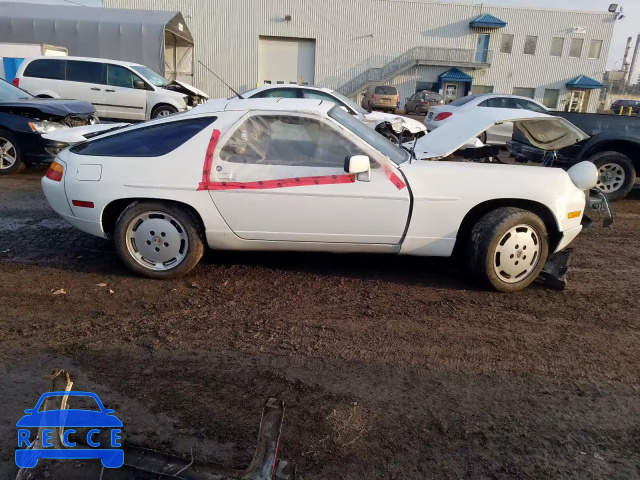
[[[371,159],[370,181],[344,171],[358,154]],[[395,245],[406,227],[402,174],[328,119],[251,112],[220,139],[213,167],[206,188],[246,240]]]

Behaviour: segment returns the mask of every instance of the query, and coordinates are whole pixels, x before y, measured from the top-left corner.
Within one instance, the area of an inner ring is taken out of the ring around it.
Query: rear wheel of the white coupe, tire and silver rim
[[[138,275],[177,278],[190,272],[204,254],[199,225],[198,219],[180,206],[134,202],[116,222],[115,247],[125,265]]]

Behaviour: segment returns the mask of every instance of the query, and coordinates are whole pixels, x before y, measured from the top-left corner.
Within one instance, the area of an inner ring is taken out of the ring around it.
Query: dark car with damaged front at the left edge
[[[50,162],[66,144],[43,133],[98,123],[90,103],[35,98],[0,80],[0,175]]]

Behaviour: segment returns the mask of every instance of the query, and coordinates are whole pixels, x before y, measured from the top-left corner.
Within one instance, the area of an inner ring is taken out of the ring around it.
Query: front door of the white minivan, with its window
[[[147,90],[134,87],[136,80],[143,81],[128,68],[106,64],[105,110],[109,118],[145,120]],[[146,82],[144,82],[146,85]]]

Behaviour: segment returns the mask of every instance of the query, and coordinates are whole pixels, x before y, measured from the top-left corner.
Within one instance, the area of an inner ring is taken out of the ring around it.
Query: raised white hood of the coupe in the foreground
[[[589,138],[578,127],[564,118],[529,110],[506,108],[478,108],[473,112],[455,116],[441,127],[416,142],[418,160],[437,159],[472,145],[472,141],[492,126],[512,122],[527,137],[531,145],[546,151],[560,150]],[[413,142],[404,144],[413,147]]]

